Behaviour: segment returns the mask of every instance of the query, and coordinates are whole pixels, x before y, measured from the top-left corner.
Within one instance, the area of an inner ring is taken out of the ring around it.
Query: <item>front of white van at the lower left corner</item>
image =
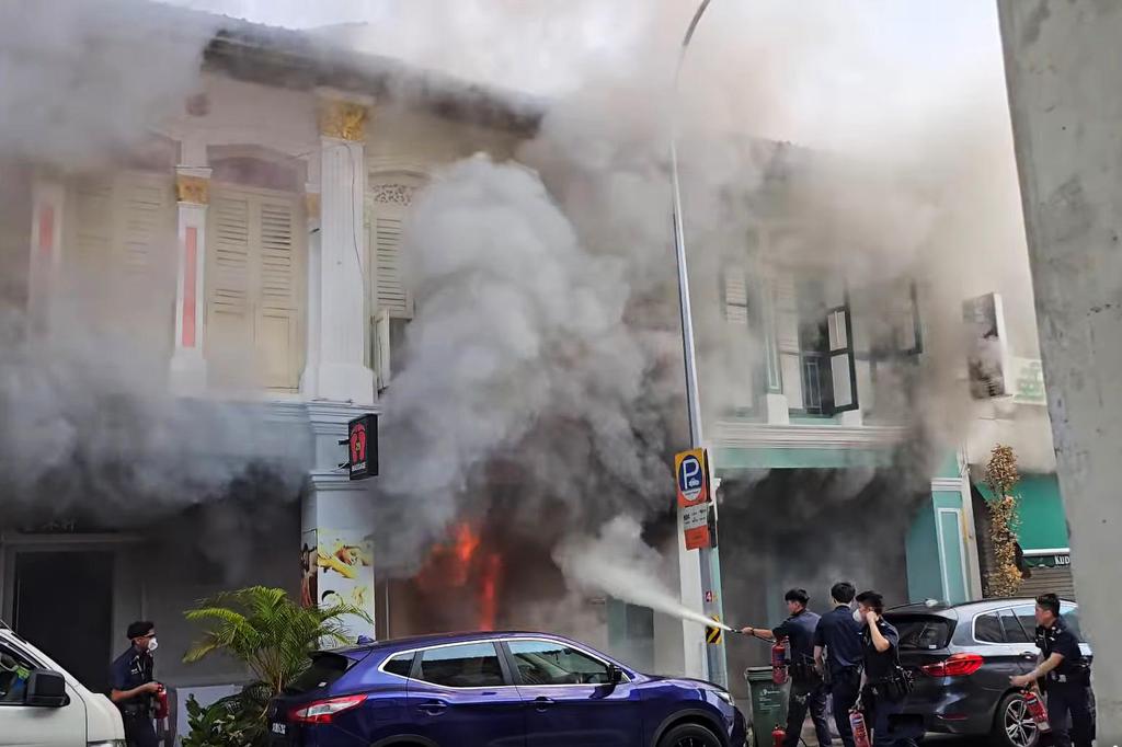
[[[0,621],[0,747],[125,747],[121,713]]]

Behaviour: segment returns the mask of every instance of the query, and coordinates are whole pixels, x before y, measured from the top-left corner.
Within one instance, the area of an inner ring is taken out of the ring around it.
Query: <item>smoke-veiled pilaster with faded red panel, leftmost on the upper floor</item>
[[[36,176],[31,190],[31,242],[28,264],[28,308],[37,325],[47,325],[50,296],[57,285],[63,253],[66,188],[61,179]]]

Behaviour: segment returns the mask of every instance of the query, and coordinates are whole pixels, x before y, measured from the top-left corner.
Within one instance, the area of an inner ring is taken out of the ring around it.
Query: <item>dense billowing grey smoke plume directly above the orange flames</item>
[[[422,311],[386,400],[379,491],[403,501],[389,555],[486,513],[496,459],[518,476],[505,523],[531,527],[552,505],[568,509],[557,529],[656,508],[665,414],[649,408],[654,359],[624,319],[626,265],[580,243],[536,174],[485,156],[439,176],[406,236]]]

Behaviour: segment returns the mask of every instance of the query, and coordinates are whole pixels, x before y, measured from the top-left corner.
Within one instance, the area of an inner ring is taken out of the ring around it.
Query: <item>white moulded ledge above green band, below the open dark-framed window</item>
[[[723,449],[888,449],[904,441],[908,428],[892,425],[770,425],[723,421],[712,445]]]

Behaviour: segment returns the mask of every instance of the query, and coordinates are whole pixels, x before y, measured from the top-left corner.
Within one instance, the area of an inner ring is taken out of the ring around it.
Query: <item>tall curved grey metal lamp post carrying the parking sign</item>
[[[690,277],[686,267],[686,230],[682,225],[682,193],[678,181],[678,79],[682,72],[686,50],[693,38],[701,16],[709,7],[710,0],[701,0],[690,27],[682,38],[682,47],[678,54],[678,66],[674,70],[674,87],[670,98],[670,185],[673,199],[674,221],[674,256],[678,260],[678,303],[682,316],[682,353],[686,361],[686,405],[689,411],[690,444],[693,449],[701,448],[701,405],[698,397],[697,356],[693,345],[693,315],[690,311]],[[720,600],[720,555],[716,548],[705,547],[701,553],[701,602],[705,614],[718,617],[724,621]],[[711,599],[711,601],[709,601]],[[706,646],[706,664],[709,680],[723,688],[728,686],[728,672],[725,663],[724,639],[719,644]]]

